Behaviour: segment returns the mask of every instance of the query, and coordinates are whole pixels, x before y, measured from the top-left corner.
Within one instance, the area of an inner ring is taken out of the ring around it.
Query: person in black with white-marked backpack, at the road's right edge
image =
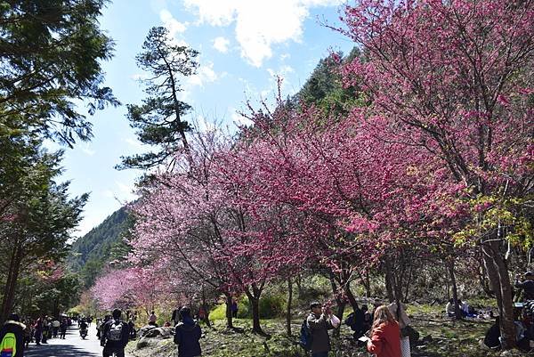
[[[113,319],[104,324],[101,334],[101,346],[103,357],[110,357],[116,353],[117,357],[125,357],[125,346],[128,345],[130,331],[128,324],[120,320],[122,312],[119,309],[113,310]]]

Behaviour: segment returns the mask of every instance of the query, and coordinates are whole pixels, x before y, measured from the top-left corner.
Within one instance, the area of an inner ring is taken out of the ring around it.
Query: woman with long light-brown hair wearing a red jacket
[[[387,306],[376,308],[368,352],[376,357],[401,357],[401,329]]]

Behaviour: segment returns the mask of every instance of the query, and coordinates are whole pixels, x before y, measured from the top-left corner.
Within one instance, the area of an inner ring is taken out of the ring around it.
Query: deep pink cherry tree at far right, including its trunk
[[[514,346],[506,246],[530,236],[533,15],[524,1],[361,0],[340,29],[365,49],[344,81],[368,93],[368,122],[384,121],[384,140],[425,148],[465,186],[472,220],[457,239],[483,251],[505,347]]]

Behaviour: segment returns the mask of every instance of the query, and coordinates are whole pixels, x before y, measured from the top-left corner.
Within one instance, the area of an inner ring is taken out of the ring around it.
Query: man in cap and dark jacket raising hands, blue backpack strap
[[[306,323],[312,335],[312,357],[328,357],[330,351],[328,329],[336,329],[335,325],[339,324],[339,320],[334,324],[332,312],[320,303],[310,304],[310,310]]]

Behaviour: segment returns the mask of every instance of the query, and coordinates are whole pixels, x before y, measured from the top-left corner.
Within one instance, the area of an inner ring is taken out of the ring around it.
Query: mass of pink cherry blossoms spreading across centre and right
[[[339,118],[279,99],[237,139],[191,134],[132,207],[130,263],[227,295],[318,266],[344,285],[403,241],[450,247],[480,196],[531,195],[534,5],[510,3],[346,6],[338,30],[365,54],[340,71],[368,104]]]

